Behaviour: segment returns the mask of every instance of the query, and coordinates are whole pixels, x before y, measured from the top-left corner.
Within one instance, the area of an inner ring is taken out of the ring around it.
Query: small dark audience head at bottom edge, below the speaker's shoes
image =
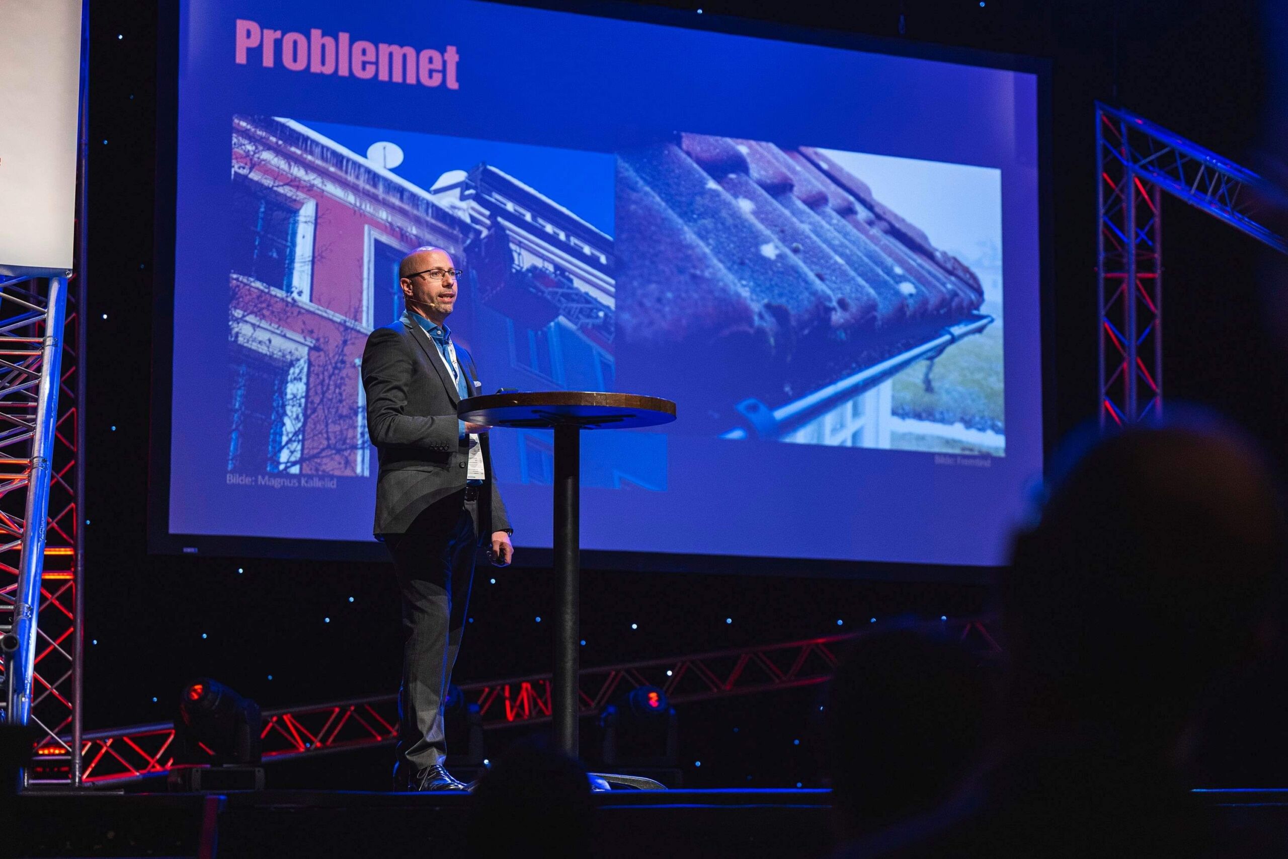
[[[594,855],[594,805],[586,769],[542,739],[513,746],[475,786],[473,805],[473,855]]]

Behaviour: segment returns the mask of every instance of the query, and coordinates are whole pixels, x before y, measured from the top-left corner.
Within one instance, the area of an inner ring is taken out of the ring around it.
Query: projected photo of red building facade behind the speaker
[[[304,124],[236,117],[229,471],[372,474],[362,349],[402,314],[398,264],[415,247],[464,269],[448,325],[484,384],[613,390],[612,237],[497,166],[444,166],[425,189]],[[506,479],[553,479],[549,433],[498,433],[492,452]],[[665,480],[665,460],[630,467],[586,482]]]

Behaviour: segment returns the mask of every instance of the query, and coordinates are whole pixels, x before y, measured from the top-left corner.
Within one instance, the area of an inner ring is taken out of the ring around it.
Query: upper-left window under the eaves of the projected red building
[[[234,274],[291,292],[300,207],[242,174],[233,174]]]

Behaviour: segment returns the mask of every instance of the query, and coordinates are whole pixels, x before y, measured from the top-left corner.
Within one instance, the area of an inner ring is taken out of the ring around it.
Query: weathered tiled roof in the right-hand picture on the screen
[[[683,355],[716,421],[905,353],[984,303],[967,265],[813,147],[679,134],[618,152],[616,219],[622,364]]]

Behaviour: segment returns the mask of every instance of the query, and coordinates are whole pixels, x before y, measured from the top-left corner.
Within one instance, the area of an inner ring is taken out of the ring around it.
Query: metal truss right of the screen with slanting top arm
[[[1264,187],[1251,170],[1096,103],[1101,428],[1163,411],[1162,192],[1288,252],[1262,223]]]

